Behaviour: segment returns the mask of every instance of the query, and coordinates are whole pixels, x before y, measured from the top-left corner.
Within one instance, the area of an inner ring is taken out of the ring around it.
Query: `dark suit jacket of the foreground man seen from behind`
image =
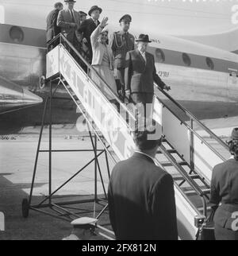
[[[150,157],[134,153],[114,167],[108,200],[117,239],[178,239],[173,179]]]

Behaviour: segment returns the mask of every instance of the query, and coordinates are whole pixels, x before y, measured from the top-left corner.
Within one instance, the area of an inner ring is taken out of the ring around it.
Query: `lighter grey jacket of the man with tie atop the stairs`
[[[73,10],[73,14],[75,16],[75,23],[76,27],[71,27],[70,23],[73,23],[73,18],[71,17],[70,10],[64,9],[60,10],[58,19],[57,19],[57,25],[61,28],[61,33],[67,38],[68,41],[71,43],[74,42],[75,39],[75,32],[77,29],[79,29],[80,25],[80,17],[79,13]]]

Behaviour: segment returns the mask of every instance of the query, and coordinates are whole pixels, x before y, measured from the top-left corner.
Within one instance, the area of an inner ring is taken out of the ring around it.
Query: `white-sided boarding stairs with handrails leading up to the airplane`
[[[132,128],[128,122],[134,118],[133,114],[63,35],[54,41],[59,45],[48,52],[47,80],[59,79],[115,164],[127,159],[134,149]],[[79,60],[84,68],[78,64]],[[90,78],[93,73],[100,87]],[[111,98],[117,100],[124,114],[117,112],[109,101]],[[198,130],[194,130],[194,124],[226,150],[228,148],[198,118],[157,87],[153,116],[161,126],[159,136],[163,136],[155,157],[157,164],[171,173],[175,181],[179,238],[195,239],[198,231],[194,225],[195,217],[209,214],[209,183],[213,166],[226,159],[199,135]]]

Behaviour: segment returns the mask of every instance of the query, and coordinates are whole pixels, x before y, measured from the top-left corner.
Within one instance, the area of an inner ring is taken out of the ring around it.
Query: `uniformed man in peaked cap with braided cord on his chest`
[[[114,75],[117,83],[118,95],[125,100],[125,56],[126,53],[135,48],[135,37],[129,33],[132,17],[125,14],[120,19],[121,31],[113,33],[109,45],[115,57]]]

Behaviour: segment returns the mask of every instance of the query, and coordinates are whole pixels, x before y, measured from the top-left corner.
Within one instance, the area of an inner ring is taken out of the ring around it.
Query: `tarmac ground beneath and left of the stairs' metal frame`
[[[71,137],[69,137],[71,138]],[[71,234],[71,224],[37,211],[29,211],[24,219],[21,214],[21,201],[29,198],[33,178],[38,138],[13,136],[10,140],[0,140],[0,211],[5,215],[5,231],[0,231],[0,240],[60,240]],[[43,138],[41,149],[48,149],[48,139]],[[53,138],[52,149],[92,149],[90,138]],[[98,143],[98,149],[100,144]],[[102,148],[101,148],[102,149]],[[52,153],[52,191],[59,188],[67,179],[77,173],[94,158],[94,152]],[[97,176],[97,193],[105,198],[102,180],[107,191],[109,176],[106,156],[103,153],[98,162],[102,179]],[[109,167],[112,161],[109,159]],[[87,200],[94,198],[94,161],[71,182],[56,192],[56,202]],[[48,153],[40,153],[33,189],[33,203],[38,204],[48,196]],[[95,204],[95,214],[105,204]],[[74,206],[75,207],[75,206]],[[94,217],[94,203],[77,205],[77,215]],[[45,211],[48,211],[46,208]],[[110,229],[109,215],[106,210],[98,224]],[[92,239],[103,239],[94,237]]]

